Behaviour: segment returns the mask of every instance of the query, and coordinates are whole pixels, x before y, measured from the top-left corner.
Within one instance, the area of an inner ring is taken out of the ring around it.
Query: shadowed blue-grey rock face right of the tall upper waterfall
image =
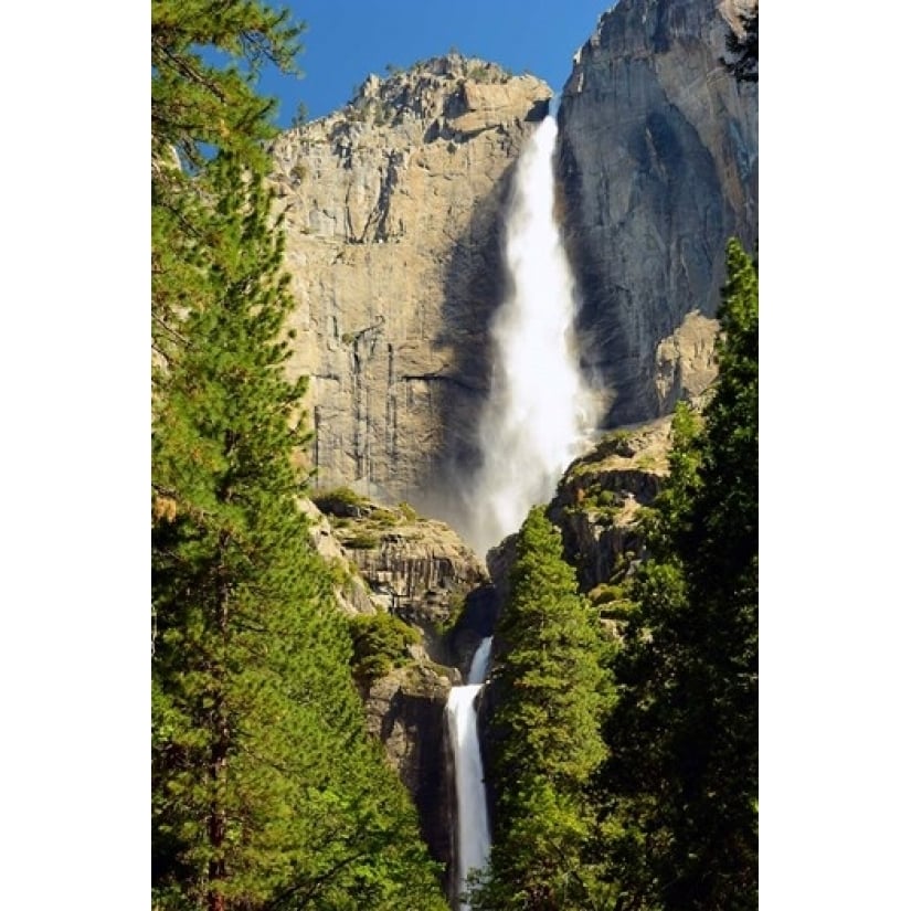
[[[566,244],[585,360],[614,393],[607,426],[705,389],[714,326],[696,315],[717,310],[725,241],[756,241],[756,84],[720,60],[735,7],[619,0],[563,89]]]

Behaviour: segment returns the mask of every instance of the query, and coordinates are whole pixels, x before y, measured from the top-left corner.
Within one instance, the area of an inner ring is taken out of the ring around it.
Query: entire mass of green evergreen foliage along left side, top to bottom
[[[252,0],[152,9],[152,908],[444,911],[297,507],[271,103],[199,55],[287,61],[296,32]]]

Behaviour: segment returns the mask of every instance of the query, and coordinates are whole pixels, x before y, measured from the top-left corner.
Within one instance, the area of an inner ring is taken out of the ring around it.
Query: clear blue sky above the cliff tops
[[[370,73],[406,68],[455,47],[544,80],[559,98],[572,55],[616,0],[274,0],[307,23],[304,78],[264,74],[259,91],[278,97],[278,124],[297,106],[309,118],[342,107]]]

